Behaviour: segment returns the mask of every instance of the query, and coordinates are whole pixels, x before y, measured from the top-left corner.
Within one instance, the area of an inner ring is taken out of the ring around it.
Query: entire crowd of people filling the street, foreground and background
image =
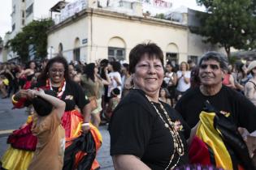
[[[218,52],[198,65],[163,59],[148,43],[122,64],[67,63],[61,54],[2,63],[2,99],[28,108],[28,121],[7,140],[2,169],[98,169],[104,124],[115,169],[255,169],[256,141],[246,137],[256,130],[256,61],[231,65]]]

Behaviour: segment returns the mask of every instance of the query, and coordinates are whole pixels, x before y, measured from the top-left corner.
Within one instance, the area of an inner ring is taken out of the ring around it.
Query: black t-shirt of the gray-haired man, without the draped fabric
[[[205,101],[222,111],[230,113],[230,118],[237,126],[244,127],[249,132],[256,130],[256,107],[241,93],[223,86],[215,96],[204,96],[199,87],[190,89],[176,104],[176,110],[182,115],[191,128],[197,125],[199,114]]]

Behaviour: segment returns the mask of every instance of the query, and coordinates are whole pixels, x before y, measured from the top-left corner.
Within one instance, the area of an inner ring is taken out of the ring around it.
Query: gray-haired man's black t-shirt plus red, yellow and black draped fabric
[[[206,109],[206,101],[215,109]],[[180,98],[176,110],[190,127],[200,119],[197,138],[189,148],[191,163],[230,170],[254,169],[249,160],[245,161],[249,159],[248,149],[237,131],[239,126],[249,132],[256,130],[256,108],[245,96],[225,86],[215,96],[204,96],[197,87]]]

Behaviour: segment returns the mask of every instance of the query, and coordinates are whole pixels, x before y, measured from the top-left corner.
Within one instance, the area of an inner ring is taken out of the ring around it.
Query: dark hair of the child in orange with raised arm
[[[57,96],[56,92],[54,91],[48,90],[48,91],[45,91],[45,93],[50,96]],[[53,109],[53,105],[50,104],[50,102],[41,98],[40,96],[37,96],[36,98],[34,98],[32,100],[32,104],[33,104],[33,108],[35,109],[35,111],[40,117],[46,117],[51,113]]]

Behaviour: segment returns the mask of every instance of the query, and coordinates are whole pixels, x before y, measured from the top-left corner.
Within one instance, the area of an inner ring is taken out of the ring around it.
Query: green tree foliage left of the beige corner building
[[[11,45],[23,62],[28,61],[28,46],[34,45],[35,57],[41,59],[47,55],[48,28],[53,25],[51,19],[34,20],[22,29],[8,44]]]

